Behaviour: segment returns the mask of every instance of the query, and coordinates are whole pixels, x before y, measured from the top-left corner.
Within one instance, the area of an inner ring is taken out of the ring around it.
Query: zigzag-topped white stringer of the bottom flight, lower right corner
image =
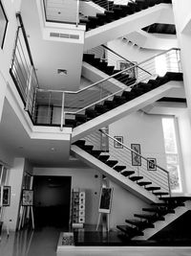
[[[181,215],[191,210],[191,201],[187,200],[184,202],[184,206],[179,206],[175,208],[175,213],[167,214],[164,216],[164,221],[156,221],[154,223],[154,228],[146,228],[144,229],[143,236],[134,237],[132,240],[148,240],[155,234],[157,234],[162,228],[166,227],[168,224],[176,221]]]

